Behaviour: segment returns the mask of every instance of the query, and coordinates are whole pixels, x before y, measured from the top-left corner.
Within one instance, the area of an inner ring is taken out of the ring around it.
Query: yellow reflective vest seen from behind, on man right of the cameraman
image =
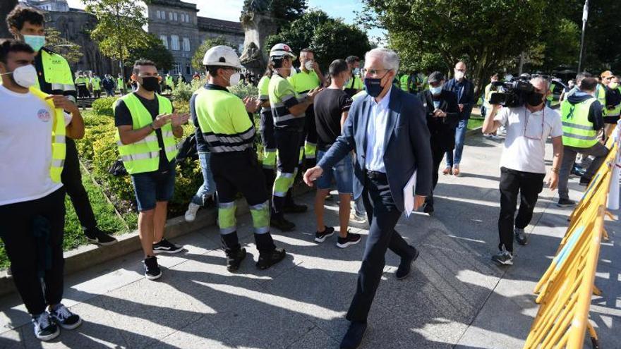
[[[561,119],[563,145],[577,148],[589,148],[597,143],[597,131],[589,121],[589,109],[597,99],[589,98],[578,104],[563,101]]]

